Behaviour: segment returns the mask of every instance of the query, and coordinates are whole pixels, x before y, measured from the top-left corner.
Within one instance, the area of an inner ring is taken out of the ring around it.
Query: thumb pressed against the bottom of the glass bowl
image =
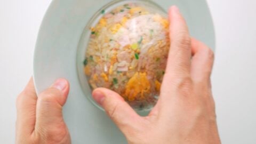
[[[142,121],[142,117],[140,117],[116,92],[99,88],[95,89],[92,95],[94,100],[105,109],[107,115],[123,133],[125,133],[129,127],[139,124]]]

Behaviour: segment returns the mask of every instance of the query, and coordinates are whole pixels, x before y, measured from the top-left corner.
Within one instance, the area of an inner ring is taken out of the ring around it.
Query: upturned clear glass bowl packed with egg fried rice
[[[170,47],[166,13],[150,1],[114,1],[87,25],[84,74],[92,90],[119,93],[135,110],[158,100]]]

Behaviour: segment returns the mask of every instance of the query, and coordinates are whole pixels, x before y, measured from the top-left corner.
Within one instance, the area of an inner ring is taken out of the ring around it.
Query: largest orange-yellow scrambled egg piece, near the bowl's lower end
[[[134,101],[135,99],[145,99],[144,93],[149,92],[150,83],[147,79],[146,73],[135,73],[126,84],[125,87],[125,97],[129,101]],[[140,98],[138,98],[138,94],[140,94]]]

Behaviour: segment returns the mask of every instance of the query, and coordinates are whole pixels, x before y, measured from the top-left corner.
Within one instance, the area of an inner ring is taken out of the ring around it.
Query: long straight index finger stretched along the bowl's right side
[[[167,60],[166,77],[184,77],[190,73],[191,44],[188,27],[178,7],[169,10],[171,47]],[[170,81],[165,78],[166,81]]]

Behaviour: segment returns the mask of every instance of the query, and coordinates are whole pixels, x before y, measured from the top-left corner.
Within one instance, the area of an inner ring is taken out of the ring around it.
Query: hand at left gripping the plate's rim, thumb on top
[[[16,143],[71,143],[62,117],[68,92],[68,82],[58,79],[37,97],[31,78],[17,98]]]

